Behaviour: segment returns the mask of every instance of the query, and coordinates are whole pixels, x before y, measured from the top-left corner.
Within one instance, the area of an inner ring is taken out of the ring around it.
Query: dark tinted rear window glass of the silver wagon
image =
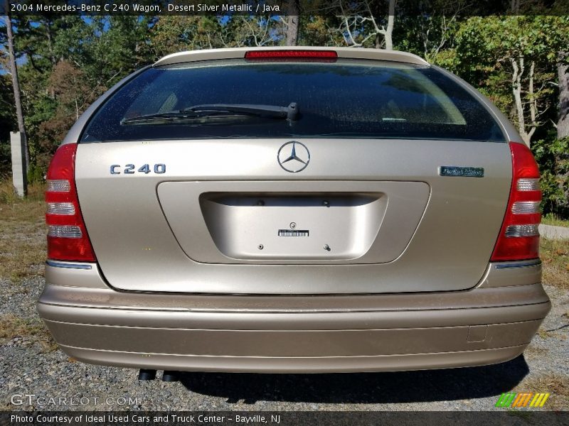
[[[204,104],[292,102],[299,110],[294,121],[176,116]],[[371,60],[215,60],[149,68],[100,107],[81,141],[300,137],[504,141],[482,104],[441,72]]]

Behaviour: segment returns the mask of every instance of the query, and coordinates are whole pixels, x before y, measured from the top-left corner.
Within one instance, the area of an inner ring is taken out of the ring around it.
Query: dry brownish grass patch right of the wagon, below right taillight
[[[569,240],[541,239],[543,281],[569,290]]]

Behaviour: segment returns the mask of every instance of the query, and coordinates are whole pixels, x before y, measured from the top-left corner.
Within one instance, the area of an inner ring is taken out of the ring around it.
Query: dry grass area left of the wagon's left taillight
[[[46,260],[43,185],[28,187],[22,200],[10,182],[0,183],[0,278],[19,283],[42,275]]]

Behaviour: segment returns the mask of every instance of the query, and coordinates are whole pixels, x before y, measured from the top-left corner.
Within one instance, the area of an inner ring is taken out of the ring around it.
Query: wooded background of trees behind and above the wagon
[[[381,1],[381,0],[376,0]],[[542,173],[543,212],[569,219],[569,16],[476,16],[457,1],[445,13],[388,13],[373,0],[326,2],[301,16],[2,16],[0,180],[11,173],[18,130],[7,26],[28,138],[28,181],[41,181],[73,122],[122,77],[180,50],[267,45],[390,48],[420,55],[474,85],[518,127]],[[482,11],[484,12],[484,11]],[[483,15],[486,13],[480,13]]]

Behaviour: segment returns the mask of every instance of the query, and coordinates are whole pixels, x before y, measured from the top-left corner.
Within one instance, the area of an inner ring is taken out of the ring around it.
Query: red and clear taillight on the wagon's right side
[[[511,142],[512,182],[508,208],[491,261],[520,261],[539,256],[541,188],[539,169],[524,143]]]

